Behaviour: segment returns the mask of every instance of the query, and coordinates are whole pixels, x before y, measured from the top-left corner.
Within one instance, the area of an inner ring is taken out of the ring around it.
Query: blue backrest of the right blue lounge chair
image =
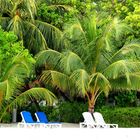
[[[48,119],[47,119],[47,116],[44,112],[36,112],[35,116],[36,116],[38,122],[42,122],[42,123],[48,123],[49,122]]]

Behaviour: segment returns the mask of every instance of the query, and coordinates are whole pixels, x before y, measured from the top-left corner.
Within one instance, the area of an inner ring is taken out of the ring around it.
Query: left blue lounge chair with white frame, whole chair
[[[44,123],[35,122],[32,115],[28,111],[20,112],[22,122],[18,123],[18,127],[44,127]]]

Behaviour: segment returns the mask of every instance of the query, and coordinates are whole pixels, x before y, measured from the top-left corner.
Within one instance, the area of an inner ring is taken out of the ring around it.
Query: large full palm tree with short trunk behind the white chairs
[[[37,56],[36,65],[45,69],[40,81],[87,97],[89,112],[101,93],[140,88],[140,44],[120,42],[129,28],[117,18],[109,20],[94,15],[78,21],[64,32],[71,42],[65,52],[46,50]]]

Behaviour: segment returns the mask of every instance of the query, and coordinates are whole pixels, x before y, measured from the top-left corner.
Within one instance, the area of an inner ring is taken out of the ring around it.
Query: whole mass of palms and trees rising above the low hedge
[[[139,12],[138,0],[0,0],[1,121],[42,100],[90,112],[103,95],[139,100]]]

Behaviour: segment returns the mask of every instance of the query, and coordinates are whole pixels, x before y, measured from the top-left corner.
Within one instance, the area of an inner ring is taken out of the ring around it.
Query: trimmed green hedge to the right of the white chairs
[[[102,113],[106,123],[116,123],[119,127],[140,127],[140,108],[109,108],[96,110]]]

